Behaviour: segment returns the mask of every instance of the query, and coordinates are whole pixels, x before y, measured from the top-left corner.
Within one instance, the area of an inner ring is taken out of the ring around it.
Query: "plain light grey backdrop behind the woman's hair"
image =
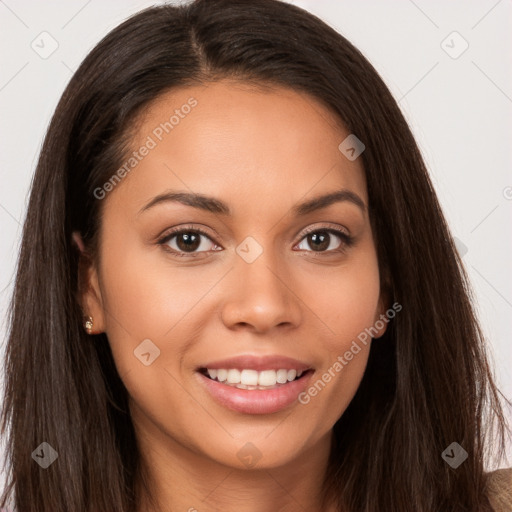
[[[27,193],[50,117],[92,47],[155,3],[0,0],[1,357]],[[353,42],[399,100],[460,241],[498,383],[512,397],[512,0],[290,3]],[[31,44],[49,51],[51,38],[58,48],[43,59]]]

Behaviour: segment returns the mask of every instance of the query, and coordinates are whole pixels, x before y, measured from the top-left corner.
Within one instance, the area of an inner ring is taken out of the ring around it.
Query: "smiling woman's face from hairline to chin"
[[[386,310],[348,135],[308,95],[229,81],[140,118],[129,171],[98,191],[84,310],[159,450],[270,468],[329,438]]]

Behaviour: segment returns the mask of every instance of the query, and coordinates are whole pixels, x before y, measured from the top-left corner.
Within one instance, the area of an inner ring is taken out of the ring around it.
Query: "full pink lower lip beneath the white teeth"
[[[197,372],[202,385],[224,407],[244,414],[271,414],[292,405],[302,393],[313,374],[308,371],[297,380],[274,389],[238,389],[222,384]]]

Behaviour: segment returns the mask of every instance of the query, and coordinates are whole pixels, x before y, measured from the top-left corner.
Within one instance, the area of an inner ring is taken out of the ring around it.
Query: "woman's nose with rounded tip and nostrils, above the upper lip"
[[[302,318],[301,300],[291,276],[270,251],[263,251],[252,263],[237,258],[225,283],[227,299],[221,316],[226,327],[257,333],[297,327]]]

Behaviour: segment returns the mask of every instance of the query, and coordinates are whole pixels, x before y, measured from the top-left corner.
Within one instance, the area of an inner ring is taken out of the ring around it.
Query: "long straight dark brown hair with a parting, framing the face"
[[[278,0],[196,0],[146,9],[110,32],[66,88],[32,184],[9,310],[2,432],[18,512],[136,510],[140,457],[106,335],[78,301],[79,231],[92,257],[94,195],[124,160],[135,120],[176,87],[234,78],[326,105],[366,149],[382,286],[402,311],[373,343],[335,424],[325,496],[351,512],[489,511],[484,463],[506,424],[467,275],[396,101],[343,36]],[[58,453],[42,469],[42,442]],[[452,442],[468,459],[452,469]]]

